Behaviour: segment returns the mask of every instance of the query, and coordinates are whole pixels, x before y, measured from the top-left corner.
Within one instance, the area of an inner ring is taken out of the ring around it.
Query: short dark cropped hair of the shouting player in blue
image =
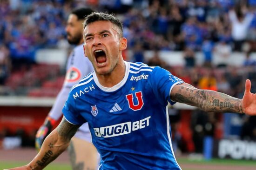
[[[121,33],[120,36],[123,36],[123,26],[120,20],[115,18],[113,14],[108,14],[108,13],[91,13],[88,15],[83,23],[83,29],[88,26],[90,23],[93,23],[95,21],[110,21],[116,26],[119,27]]]

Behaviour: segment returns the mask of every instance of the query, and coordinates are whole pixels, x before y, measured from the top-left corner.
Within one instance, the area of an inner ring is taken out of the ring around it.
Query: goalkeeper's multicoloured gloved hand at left
[[[53,124],[55,120],[47,117],[44,124],[39,128],[35,136],[35,149],[39,152],[41,146],[43,144],[44,139],[50,134],[52,131]]]

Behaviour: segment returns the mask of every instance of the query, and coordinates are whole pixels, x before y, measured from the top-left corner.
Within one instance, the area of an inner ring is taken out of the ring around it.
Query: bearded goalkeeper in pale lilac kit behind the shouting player
[[[56,120],[62,116],[62,108],[65,105],[70,88],[77,84],[82,77],[93,71],[91,62],[84,56],[82,45],[83,21],[92,12],[94,11],[90,8],[77,8],[68,16],[66,26],[67,41],[72,45],[76,45],[76,47],[68,58],[67,73],[62,89],[44,124],[37,132],[35,142],[37,150],[40,150],[44,138],[51,132]],[[91,142],[88,123],[81,125],[71,139],[68,153],[73,170],[96,170],[98,153]]]

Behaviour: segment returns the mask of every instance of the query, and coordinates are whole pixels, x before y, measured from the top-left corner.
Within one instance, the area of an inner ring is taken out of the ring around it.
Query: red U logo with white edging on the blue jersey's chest
[[[141,91],[135,92],[135,96],[138,103],[137,105],[134,104],[133,94],[126,95],[126,99],[128,101],[129,108],[131,108],[134,111],[138,111],[138,110],[141,110],[142,106],[144,105]]]

